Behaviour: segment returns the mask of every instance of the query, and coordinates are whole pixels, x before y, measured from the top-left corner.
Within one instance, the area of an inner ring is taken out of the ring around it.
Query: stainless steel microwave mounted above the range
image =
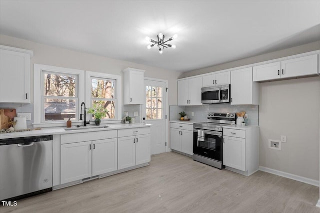
[[[201,88],[201,103],[230,103],[230,84]]]

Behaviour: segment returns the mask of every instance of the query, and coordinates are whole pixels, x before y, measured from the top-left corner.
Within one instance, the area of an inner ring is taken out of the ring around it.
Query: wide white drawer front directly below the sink
[[[93,141],[107,138],[116,138],[116,130],[81,132],[61,135],[61,144],[69,144],[81,141]]]

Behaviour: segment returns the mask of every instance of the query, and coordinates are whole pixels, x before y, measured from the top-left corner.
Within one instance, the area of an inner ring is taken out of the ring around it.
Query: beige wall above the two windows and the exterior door
[[[73,69],[82,69],[95,72],[103,72],[115,75],[122,75],[122,69],[132,67],[146,70],[145,77],[159,78],[168,80],[168,104],[177,104],[177,86],[176,79],[181,74],[171,70],[165,70],[158,67],[146,66],[143,64],[132,63],[128,61],[115,60],[98,55],[77,52],[65,48],[35,43],[6,35],[0,35],[0,44],[22,49],[33,50],[31,58],[31,94],[33,93],[33,64],[45,64]],[[31,96],[33,100],[33,95]]]

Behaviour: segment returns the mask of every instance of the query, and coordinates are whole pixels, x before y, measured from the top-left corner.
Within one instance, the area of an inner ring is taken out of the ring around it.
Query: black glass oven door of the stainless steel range
[[[204,131],[204,140],[198,141],[198,130],[193,129],[193,153],[222,162],[222,132]]]

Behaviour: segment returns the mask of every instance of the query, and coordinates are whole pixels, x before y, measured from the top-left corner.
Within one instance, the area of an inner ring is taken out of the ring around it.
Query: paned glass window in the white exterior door
[[[146,86],[146,119],[162,119],[162,87]]]

